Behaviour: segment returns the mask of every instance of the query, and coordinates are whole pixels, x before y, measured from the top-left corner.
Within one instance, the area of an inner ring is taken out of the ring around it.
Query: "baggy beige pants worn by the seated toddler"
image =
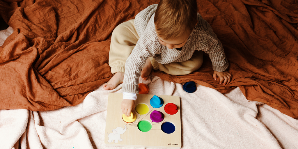
[[[114,29],[109,53],[109,65],[113,74],[116,72],[124,73],[125,62],[139,38],[134,26],[134,19],[123,22]],[[189,60],[168,64],[157,63],[152,57],[150,60],[154,70],[159,69],[170,75],[187,75],[201,67],[203,53],[202,51],[195,51]]]

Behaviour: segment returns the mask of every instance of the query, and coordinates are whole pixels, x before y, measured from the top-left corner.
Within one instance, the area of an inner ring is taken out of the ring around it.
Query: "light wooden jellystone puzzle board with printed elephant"
[[[105,125],[105,145],[107,146],[123,146],[123,147],[146,147],[146,148],[181,148],[181,120],[180,120],[180,98],[178,96],[156,95],[163,99],[164,104],[160,108],[154,108],[150,105],[150,99],[153,95],[137,94],[136,106],[145,104],[149,110],[146,114],[139,114],[134,109],[136,121],[127,123],[122,119],[122,111],[120,103],[122,102],[122,93],[109,93],[108,95],[108,110]],[[164,111],[164,106],[167,103],[174,103],[178,107],[176,114],[170,115]],[[160,111],[164,114],[162,122],[153,122],[150,119],[152,111]],[[138,123],[142,120],[149,121],[152,128],[143,132],[138,128]],[[175,126],[175,131],[171,134],[165,133],[161,129],[161,125],[165,122],[170,122]],[[126,125],[126,131],[125,131]],[[121,128],[119,128],[121,127]],[[113,129],[124,131],[123,134],[113,134]],[[109,136],[109,134],[111,136]],[[120,135],[120,138],[119,138]],[[110,140],[109,140],[110,138]],[[111,139],[118,140],[112,140]],[[119,139],[118,139],[119,138]],[[109,142],[108,142],[109,141]],[[117,142],[117,143],[116,143]]]

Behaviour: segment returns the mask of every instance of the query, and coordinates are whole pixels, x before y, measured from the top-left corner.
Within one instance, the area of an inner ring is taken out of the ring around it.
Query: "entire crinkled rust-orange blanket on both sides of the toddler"
[[[153,1],[1,0],[0,14],[15,32],[0,47],[0,109],[45,111],[79,104],[112,74],[112,30]],[[198,12],[221,40],[233,75],[212,78],[208,55],[190,75],[153,75],[195,81],[222,93],[239,87],[256,100],[298,119],[298,2],[200,0]]]

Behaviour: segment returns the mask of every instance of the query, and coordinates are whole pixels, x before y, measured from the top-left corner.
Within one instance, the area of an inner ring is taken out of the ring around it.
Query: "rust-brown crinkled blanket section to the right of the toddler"
[[[159,71],[153,74],[173,82],[195,81],[222,93],[238,86],[248,100],[266,103],[297,119],[298,14],[294,10],[298,5],[243,0],[203,1],[198,7],[209,8],[199,10],[224,46],[232,82],[222,86],[214,81],[206,56],[202,67],[191,75],[169,76]]]

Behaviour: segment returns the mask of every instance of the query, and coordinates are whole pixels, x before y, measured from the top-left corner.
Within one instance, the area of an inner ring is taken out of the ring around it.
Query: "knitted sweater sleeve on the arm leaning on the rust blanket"
[[[214,71],[223,72],[229,67],[221,41],[218,40],[210,25],[206,32],[203,47],[203,51],[209,54]]]

